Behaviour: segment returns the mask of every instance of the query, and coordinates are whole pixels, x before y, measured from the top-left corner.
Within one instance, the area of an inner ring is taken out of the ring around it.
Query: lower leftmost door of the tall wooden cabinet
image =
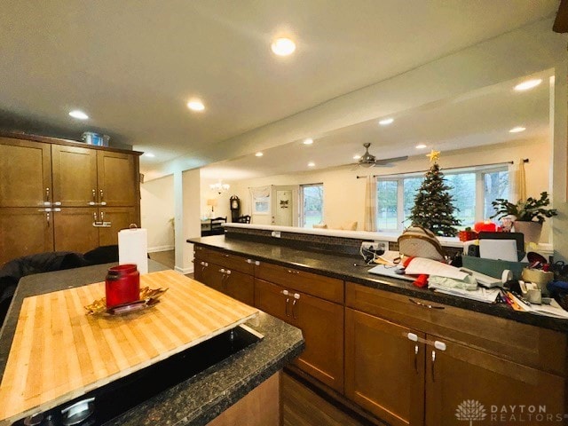
[[[16,257],[53,251],[53,212],[44,210],[0,209],[0,265]]]

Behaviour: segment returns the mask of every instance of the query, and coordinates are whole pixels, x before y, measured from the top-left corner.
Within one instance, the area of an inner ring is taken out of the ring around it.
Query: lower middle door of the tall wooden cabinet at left
[[[92,225],[96,217],[97,209],[88,207],[65,207],[55,212],[55,250],[85,253],[99,247],[99,228]]]

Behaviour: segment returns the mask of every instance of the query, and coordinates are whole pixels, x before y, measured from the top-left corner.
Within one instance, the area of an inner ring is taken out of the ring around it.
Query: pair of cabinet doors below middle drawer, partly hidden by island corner
[[[293,361],[296,366],[343,393],[343,305],[258,279],[255,302],[302,330],[305,350]]]

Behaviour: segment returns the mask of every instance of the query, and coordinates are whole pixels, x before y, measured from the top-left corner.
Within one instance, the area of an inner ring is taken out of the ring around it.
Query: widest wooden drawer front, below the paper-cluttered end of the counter
[[[345,304],[360,312],[465,343],[525,366],[557,375],[564,375],[567,370],[566,335],[553,330],[352,282],[346,283]],[[430,309],[427,305],[443,309]]]

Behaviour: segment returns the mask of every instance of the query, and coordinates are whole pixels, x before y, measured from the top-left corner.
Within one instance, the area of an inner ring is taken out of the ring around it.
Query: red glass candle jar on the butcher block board
[[[108,269],[105,280],[106,308],[140,299],[140,272],[136,264],[119,264]]]

